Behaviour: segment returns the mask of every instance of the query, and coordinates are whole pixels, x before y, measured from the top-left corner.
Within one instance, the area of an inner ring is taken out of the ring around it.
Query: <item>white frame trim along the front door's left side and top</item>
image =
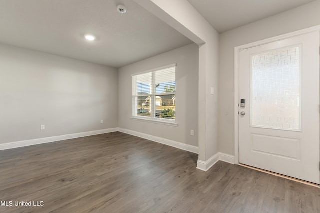
[[[275,37],[271,37],[271,38],[263,39],[260,41],[256,41],[256,42],[252,42],[252,43],[248,43],[248,44],[234,47],[234,164],[239,164],[239,157],[240,157],[239,156],[239,145],[240,145],[240,143],[239,143],[240,142],[239,141],[240,140],[239,129],[240,129],[240,126],[239,126],[239,114],[238,114],[238,112],[239,112],[238,104],[239,104],[239,100],[240,100],[239,99],[239,86],[240,86],[240,82],[239,82],[239,55],[240,54],[239,54],[239,52],[242,51],[243,49],[247,49],[247,48],[251,48],[251,47],[255,47],[255,46],[260,46],[260,45],[271,43],[274,41],[283,40],[286,38],[302,35],[305,33],[312,32],[312,31],[319,31],[319,30],[320,30],[320,25],[317,25],[317,26],[297,30],[297,31],[286,33],[283,35],[279,35],[279,36],[275,36]],[[319,152],[320,152],[320,150],[319,150]]]

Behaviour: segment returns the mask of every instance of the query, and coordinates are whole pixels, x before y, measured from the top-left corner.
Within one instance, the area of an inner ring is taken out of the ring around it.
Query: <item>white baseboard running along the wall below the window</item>
[[[119,128],[118,131],[126,133],[126,134],[129,134],[129,135],[134,135],[134,136],[137,136],[137,137],[140,137],[140,138],[144,138],[144,139],[147,139],[147,140],[150,140],[150,141],[155,141],[155,142],[158,142],[158,143],[161,143],[161,144],[165,144],[165,145],[168,145],[168,146],[171,146],[171,147],[175,147],[175,148],[178,148],[178,149],[182,149],[182,150],[185,150],[185,151],[193,152],[193,153],[196,153],[196,154],[198,154],[198,152],[199,152],[199,148],[196,147],[196,146],[193,146],[193,145],[188,145],[188,144],[180,143],[180,142],[177,142],[177,141],[172,141],[172,140],[169,140],[169,139],[160,138],[160,137],[157,137],[157,136],[148,135],[148,134],[145,134],[145,133],[136,132],[136,131],[133,131],[133,130],[123,129],[123,128]]]

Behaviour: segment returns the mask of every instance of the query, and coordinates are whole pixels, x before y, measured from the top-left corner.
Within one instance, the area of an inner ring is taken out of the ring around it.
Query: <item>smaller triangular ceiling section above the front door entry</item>
[[[314,0],[188,0],[219,33]]]

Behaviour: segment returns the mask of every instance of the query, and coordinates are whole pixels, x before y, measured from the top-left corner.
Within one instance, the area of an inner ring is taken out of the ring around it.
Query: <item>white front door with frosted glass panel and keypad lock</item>
[[[319,38],[240,50],[240,163],[319,184]]]

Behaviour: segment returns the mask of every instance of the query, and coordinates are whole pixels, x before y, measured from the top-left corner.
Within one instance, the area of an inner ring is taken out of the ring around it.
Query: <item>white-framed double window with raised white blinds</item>
[[[132,115],[175,120],[175,64],[132,76]]]

